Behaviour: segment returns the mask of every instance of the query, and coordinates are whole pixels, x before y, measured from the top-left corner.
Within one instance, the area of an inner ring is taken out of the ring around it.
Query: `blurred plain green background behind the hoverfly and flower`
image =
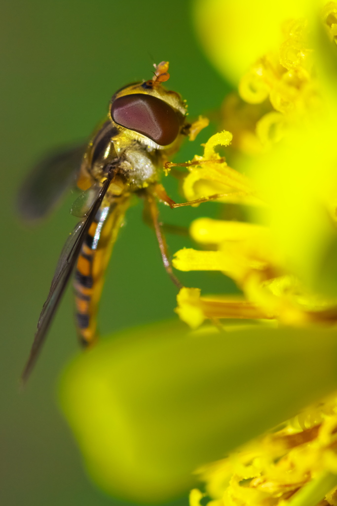
[[[85,476],[81,457],[56,403],[57,378],[78,353],[69,289],[25,392],[18,378],[32,342],[54,268],[76,219],[69,195],[57,212],[29,228],[16,215],[17,189],[29,168],[49,149],[87,138],[106,114],[111,95],[128,82],[148,79],[152,64],[169,60],[167,85],[182,94],[191,118],[219,108],[226,84],[199,49],[186,0],[7,0],[1,3],[0,205],[1,419],[0,503],[6,506],[103,506],[120,504]],[[201,154],[200,143],[176,160]],[[165,178],[180,200],[177,183]],[[215,215],[217,204],[172,211],[165,222],[187,226]],[[169,235],[170,251],[191,243]],[[204,292],[231,289],[218,274],[179,273]],[[130,208],[108,270],[100,311],[102,334],[174,316],[176,290],[168,279],[141,203]],[[132,484],[130,484],[132,486]],[[174,504],[187,504],[187,495]]]

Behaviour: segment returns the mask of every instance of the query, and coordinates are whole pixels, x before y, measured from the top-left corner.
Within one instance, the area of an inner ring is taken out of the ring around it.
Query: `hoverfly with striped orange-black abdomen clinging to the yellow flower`
[[[168,62],[155,68],[153,79],[132,83],[113,95],[108,117],[86,148],[77,146],[42,161],[21,190],[21,213],[28,219],[46,214],[74,177],[83,191],[72,211],[82,219],[62,250],[38,319],[23,382],[35,364],[73,271],[79,339],[85,346],[97,339],[96,315],[104,273],[133,194],[145,200],[164,267],[181,286],[168,260],[157,200],[175,206],[159,184],[160,173],[191,125],[186,122],[186,104],[180,95],[162,86],[169,78]]]

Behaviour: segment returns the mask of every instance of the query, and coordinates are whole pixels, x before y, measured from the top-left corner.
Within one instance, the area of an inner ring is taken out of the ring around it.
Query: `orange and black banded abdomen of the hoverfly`
[[[74,291],[78,337],[84,346],[97,340],[97,311],[104,274],[122,224],[128,199],[104,204],[95,216],[78,257]]]

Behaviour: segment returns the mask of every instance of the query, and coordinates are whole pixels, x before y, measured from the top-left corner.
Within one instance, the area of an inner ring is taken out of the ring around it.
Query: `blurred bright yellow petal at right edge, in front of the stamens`
[[[315,128],[292,130],[281,144],[250,163],[254,184],[270,203],[267,212],[261,208],[259,219],[270,226],[286,267],[312,289],[323,288],[321,266],[335,236],[325,202],[337,188],[337,157],[331,150],[333,127],[326,126],[319,122]],[[252,208],[253,219],[256,216]]]

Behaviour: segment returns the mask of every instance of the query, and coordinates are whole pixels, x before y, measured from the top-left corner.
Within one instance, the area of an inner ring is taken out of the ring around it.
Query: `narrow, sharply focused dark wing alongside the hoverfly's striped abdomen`
[[[81,249],[81,245],[86,237],[89,227],[97,214],[103,198],[108,190],[109,184],[112,179],[113,171],[110,171],[108,178],[104,181],[101,186],[97,199],[95,200],[90,212],[82,221],[80,221],[73,232],[68,237],[65,246],[62,249],[59,262],[56,267],[56,271],[52,280],[52,284],[49,290],[48,297],[43,304],[41,314],[38,319],[37,328],[34,336],[32,348],[26,366],[23,370],[21,380],[24,384],[29,374],[31,373],[41,347],[45,341],[46,334],[52,323],[53,317],[57,311],[64,290],[68,284],[69,278],[76,265],[76,261]]]

